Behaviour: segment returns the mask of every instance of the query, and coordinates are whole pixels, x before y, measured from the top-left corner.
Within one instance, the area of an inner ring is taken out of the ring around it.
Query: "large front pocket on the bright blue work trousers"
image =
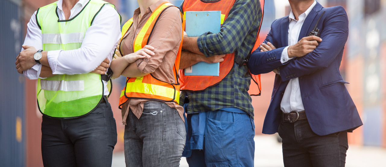
[[[237,162],[234,122],[207,118],[205,129],[205,162],[207,166],[233,166]]]

